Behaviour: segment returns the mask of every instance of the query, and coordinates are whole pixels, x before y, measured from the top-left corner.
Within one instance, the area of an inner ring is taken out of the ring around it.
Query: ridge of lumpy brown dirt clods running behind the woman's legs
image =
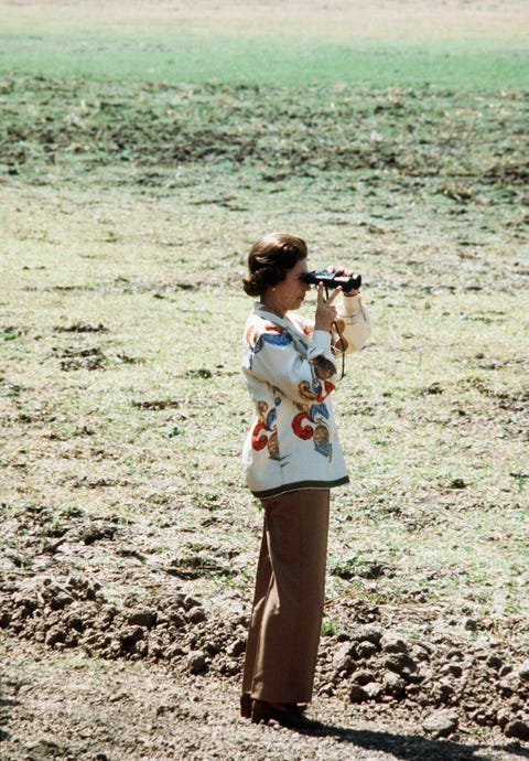
[[[105,658],[168,662],[183,674],[239,679],[247,617],[226,617],[182,593],[110,601],[80,575],[20,579],[0,586],[0,626],[64,651]],[[440,635],[427,642],[391,633],[377,608],[341,607],[341,634],[322,640],[317,689],[363,706],[403,707],[434,737],[472,725],[529,739],[529,662]]]

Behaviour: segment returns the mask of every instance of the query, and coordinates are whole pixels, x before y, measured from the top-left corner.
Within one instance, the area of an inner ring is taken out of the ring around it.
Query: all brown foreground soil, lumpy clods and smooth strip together
[[[110,598],[108,576],[96,581],[78,564],[73,572],[71,559],[94,568],[97,555],[133,556],[111,519],[58,524],[28,510],[11,512],[7,528],[14,524],[19,543],[0,582],[6,761],[529,757],[529,662],[511,643],[485,647],[447,629],[402,639],[411,608],[337,600],[310,708],[322,726],[252,726],[238,716],[241,592],[206,602],[190,593],[204,568],[153,574],[138,562],[141,592],[116,588]]]

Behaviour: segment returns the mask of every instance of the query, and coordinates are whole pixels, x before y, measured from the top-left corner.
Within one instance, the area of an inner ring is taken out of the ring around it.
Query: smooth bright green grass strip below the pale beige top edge
[[[281,34],[245,39],[224,34],[174,33],[105,37],[1,34],[0,72],[83,77],[96,81],[207,82],[305,87],[418,87],[425,84],[472,89],[523,87],[529,56],[521,44],[446,41],[401,44],[344,42]]]

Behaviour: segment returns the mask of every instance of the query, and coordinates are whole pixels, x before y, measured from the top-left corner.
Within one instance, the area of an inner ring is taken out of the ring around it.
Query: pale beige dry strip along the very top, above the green
[[[300,35],[358,40],[428,41],[527,40],[528,11],[522,0],[133,0],[83,2],[63,0],[43,4],[32,0],[0,2],[4,31],[151,34],[168,26],[193,32],[266,34],[295,31]]]

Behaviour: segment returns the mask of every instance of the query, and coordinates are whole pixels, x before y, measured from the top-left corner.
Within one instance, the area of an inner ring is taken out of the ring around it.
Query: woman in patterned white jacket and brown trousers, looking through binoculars
[[[264,527],[240,707],[256,724],[296,728],[314,725],[303,709],[323,617],[330,490],[348,482],[331,406],[336,355],[361,349],[370,333],[358,291],[344,293],[338,310],[341,289],[326,299],[320,283],[314,325],[291,314],[310,290],[306,257],[301,238],[267,235],[252,246],[244,281],[260,299],[245,332],[242,372],[257,419],[244,462]]]

